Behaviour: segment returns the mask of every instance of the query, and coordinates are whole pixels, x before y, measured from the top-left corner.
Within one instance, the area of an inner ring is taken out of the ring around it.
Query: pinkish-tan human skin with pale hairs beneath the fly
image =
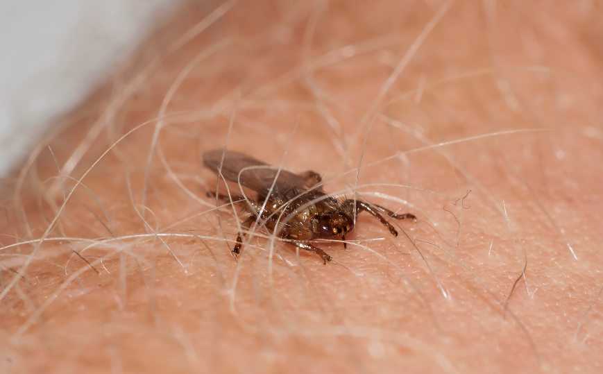
[[[6,179],[1,371],[600,372],[602,8],[450,5],[185,7]],[[227,139],[419,222],[237,261]]]

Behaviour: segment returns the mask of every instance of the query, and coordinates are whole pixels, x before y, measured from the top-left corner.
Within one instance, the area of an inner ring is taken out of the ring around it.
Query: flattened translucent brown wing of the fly
[[[223,150],[214,149],[203,153],[203,164],[207,169],[218,173],[222,160]],[[247,169],[248,167],[255,167]],[[222,176],[230,182],[241,182],[241,185],[251,189],[261,196],[266,196],[274,182],[278,169],[270,167],[260,160],[256,160],[244,153],[226,151],[222,162]],[[240,173],[240,177],[239,177]],[[280,170],[278,180],[273,187],[272,196],[280,197],[287,194],[293,188],[307,189],[306,181],[297,174],[290,171]]]

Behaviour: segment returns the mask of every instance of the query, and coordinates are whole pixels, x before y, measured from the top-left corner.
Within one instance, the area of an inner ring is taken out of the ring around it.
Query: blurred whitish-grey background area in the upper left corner
[[[180,0],[0,1],[0,175]]]

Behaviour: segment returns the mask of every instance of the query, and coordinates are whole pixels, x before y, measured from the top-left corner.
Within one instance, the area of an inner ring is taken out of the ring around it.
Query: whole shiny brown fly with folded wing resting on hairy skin
[[[257,221],[262,205],[265,205],[260,221],[272,231],[278,229],[276,234],[287,243],[321,256],[324,264],[331,261],[331,256],[321,248],[313,246],[311,241],[341,237],[343,246],[347,248],[346,235],[354,228],[353,216],[360,212],[372,214],[394,236],[398,236],[398,232],[382,214],[416,222],[416,216],[413,214],[395,214],[379,205],[353,199],[338,201],[324,192],[321,186],[316,186],[322,178],[314,171],[300,174],[286,170],[278,171],[244,153],[225,152],[221,149],[203,153],[203,164],[216,175],[221,173],[224,179],[240,182],[242,186],[257,194],[255,201],[246,201],[238,195],[231,196],[232,201],[239,201],[243,209],[250,214],[241,224],[241,230],[250,229]],[[213,192],[207,195],[216,196]],[[226,202],[231,201],[228,195],[217,194],[217,197]],[[290,218],[283,222],[285,217]],[[239,232],[237,236],[235,248],[232,250],[235,257],[241,251],[244,235],[244,232]]]

